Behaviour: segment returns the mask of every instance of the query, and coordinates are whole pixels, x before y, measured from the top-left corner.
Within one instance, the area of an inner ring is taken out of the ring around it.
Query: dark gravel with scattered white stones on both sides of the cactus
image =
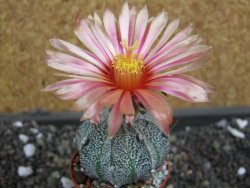
[[[167,188],[250,187],[248,122],[222,120],[171,133]],[[72,187],[68,169],[77,128],[0,122],[0,187]]]

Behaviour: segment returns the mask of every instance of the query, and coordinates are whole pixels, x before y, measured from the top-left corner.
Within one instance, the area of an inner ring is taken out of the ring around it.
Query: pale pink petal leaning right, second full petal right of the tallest
[[[153,42],[158,38],[158,36],[162,32],[166,24],[167,24],[166,12],[162,12],[155,19],[153,19],[147,37],[143,44],[143,47],[141,50],[139,50],[143,58],[147,55],[148,50],[152,46]]]

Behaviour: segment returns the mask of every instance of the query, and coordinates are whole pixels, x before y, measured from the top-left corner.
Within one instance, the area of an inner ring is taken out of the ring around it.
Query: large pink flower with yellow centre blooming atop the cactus
[[[69,79],[44,91],[57,90],[63,100],[77,99],[74,108],[84,111],[81,120],[96,122],[104,107],[111,107],[110,137],[120,128],[123,115],[133,122],[135,105],[142,105],[167,134],[172,109],[164,94],[206,102],[211,92],[207,84],[185,74],[200,67],[198,60],[210,47],[191,35],[191,25],[173,35],[179,20],[168,25],[167,20],[166,12],[148,18],[146,6],[137,13],[128,3],[123,4],[118,21],[110,10],[102,20],[97,14],[77,19],[75,34],[89,51],[51,39],[52,46],[65,53],[47,51],[47,64],[66,72],[59,75]]]

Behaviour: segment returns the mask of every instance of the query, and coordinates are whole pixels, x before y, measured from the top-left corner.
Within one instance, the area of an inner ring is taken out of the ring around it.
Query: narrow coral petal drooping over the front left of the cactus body
[[[113,136],[117,133],[117,131],[121,127],[122,123],[122,113],[120,112],[120,103],[121,103],[121,98],[119,101],[113,105],[111,113],[109,115],[108,119],[108,137],[110,139],[113,138]]]

